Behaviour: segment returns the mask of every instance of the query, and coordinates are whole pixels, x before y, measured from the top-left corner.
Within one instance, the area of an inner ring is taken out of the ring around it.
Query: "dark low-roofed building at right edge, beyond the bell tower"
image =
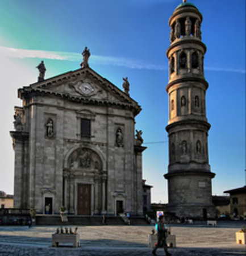
[[[224,191],[224,193],[230,193],[231,217],[246,217],[246,185]]]

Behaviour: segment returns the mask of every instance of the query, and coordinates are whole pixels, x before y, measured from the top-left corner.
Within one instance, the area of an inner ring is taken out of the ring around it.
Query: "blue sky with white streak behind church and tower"
[[[136,129],[148,146],[143,177],[153,185],[152,201],[167,202],[168,170],[168,20],[181,0],[0,0],[0,190],[13,192],[14,106],[17,89],[37,81],[44,60],[52,77],[80,68],[81,52],[90,48],[90,67],[142,106]],[[203,15],[207,46],[205,78],[212,192],[245,184],[245,1],[191,0]],[[148,144],[149,142],[162,142]]]

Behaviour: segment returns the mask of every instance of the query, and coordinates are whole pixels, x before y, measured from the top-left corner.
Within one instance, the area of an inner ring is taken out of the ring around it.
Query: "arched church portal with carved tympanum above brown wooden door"
[[[102,159],[90,148],[72,151],[64,168],[64,204],[71,214],[93,215],[105,212],[105,184]]]

